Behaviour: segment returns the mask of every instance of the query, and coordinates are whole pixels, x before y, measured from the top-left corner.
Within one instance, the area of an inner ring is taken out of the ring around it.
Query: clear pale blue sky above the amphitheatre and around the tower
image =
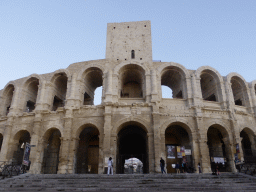
[[[150,20],[153,59],[256,79],[255,0],[1,0],[0,89],[105,58],[107,23]]]

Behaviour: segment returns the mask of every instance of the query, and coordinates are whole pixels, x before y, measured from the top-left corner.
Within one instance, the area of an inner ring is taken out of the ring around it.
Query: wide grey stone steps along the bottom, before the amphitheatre
[[[31,175],[0,181],[0,191],[256,191],[244,174]]]

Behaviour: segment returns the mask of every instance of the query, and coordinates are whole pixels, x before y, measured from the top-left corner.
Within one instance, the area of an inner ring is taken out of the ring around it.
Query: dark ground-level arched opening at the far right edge
[[[254,163],[256,161],[256,151],[251,140],[253,140],[254,134],[247,128],[240,132],[242,150],[244,154],[244,161],[246,163]],[[251,138],[250,138],[251,137]]]

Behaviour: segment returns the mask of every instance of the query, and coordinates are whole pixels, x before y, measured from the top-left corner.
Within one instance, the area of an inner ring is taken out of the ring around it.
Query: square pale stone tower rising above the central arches
[[[108,23],[106,59],[152,62],[150,21]]]

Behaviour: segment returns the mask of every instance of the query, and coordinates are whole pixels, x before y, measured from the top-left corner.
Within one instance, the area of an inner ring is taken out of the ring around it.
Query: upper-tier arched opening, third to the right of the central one
[[[246,87],[243,83],[243,80],[236,76],[232,77],[231,88],[235,105],[246,106],[246,94],[244,93]]]

